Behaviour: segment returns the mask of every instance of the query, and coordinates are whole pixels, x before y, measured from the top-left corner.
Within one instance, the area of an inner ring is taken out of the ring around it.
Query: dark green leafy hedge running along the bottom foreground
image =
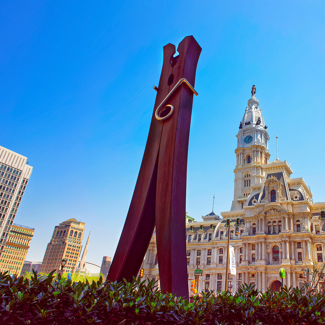
[[[243,285],[237,293],[164,294],[153,280],[90,283],[48,276],[12,279],[0,273],[1,324],[324,324],[321,294],[298,289],[266,293]]]

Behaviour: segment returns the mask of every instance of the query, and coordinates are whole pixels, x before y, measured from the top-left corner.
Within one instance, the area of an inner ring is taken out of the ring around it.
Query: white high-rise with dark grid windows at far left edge
[[[26,157],[0,146],[0,256],[32,169]]]

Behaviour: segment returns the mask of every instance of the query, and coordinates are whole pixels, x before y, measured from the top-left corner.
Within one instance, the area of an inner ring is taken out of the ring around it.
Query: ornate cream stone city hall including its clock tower
[[[199,291],[225,290],[227,219],[235,230],[230,233],[230,245],[235,248],[237,264],[237,274],[230,275],[227,283],[229,290],[245,282],[262,292],[279,291],[280,267],[287,274],[284,284],[296,287],[305,264],[312,269],[324,261],[325,202],[312,201],[302,177],[290,178],[288,162],[278,157],[269,162],[266,128],[259,102],[252,95],[237,133],[230,211],[221,212],[222,217],[212,212],[202,216],[203,221],[186,217],[189,278],[199,264],[203,270]],[[142,265],[145,274],[158,274],[156,252],[154,233]]]

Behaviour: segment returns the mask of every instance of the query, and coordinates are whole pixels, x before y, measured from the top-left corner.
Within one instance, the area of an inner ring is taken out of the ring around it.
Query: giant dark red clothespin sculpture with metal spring
[[[162,72],[148,140],[121,238],[107,276],[136,276],[156,227],[160,286],[188,298],[186,173],[196,67],[201,47],[193,36],[163,47]]]

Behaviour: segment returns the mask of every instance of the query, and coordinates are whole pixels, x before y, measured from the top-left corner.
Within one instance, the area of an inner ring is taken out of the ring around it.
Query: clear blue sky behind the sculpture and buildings
[[[202,47],[188,152],[187,211],[230,209],[236,133],[252,85],[271,160],[324,193],[324,2],[6,1],[0,20],[0,144],[33,172],[15,222],[42,260],[55,225],[91,231],[88,261],[113,256],[133,194],[162,47]]]

